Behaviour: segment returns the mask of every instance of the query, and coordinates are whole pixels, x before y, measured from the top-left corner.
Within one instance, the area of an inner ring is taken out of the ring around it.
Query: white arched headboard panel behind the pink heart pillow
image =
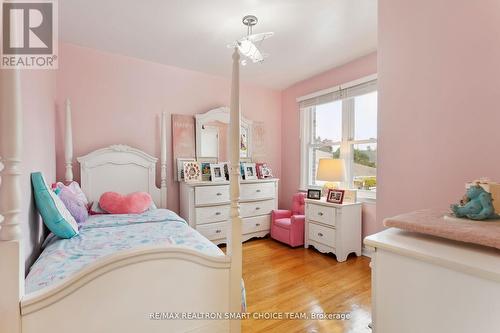
[[[113,145],[79,157],[81,187],[89,201],[101,194],[148,192],[157,207],[166,208],[166,187],[156,187],[157,158],[126,145]],[[162,193],[164,191],[165,193]]]

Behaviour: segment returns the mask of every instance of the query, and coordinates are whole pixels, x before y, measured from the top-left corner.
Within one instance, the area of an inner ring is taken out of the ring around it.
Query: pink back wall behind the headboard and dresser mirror
[[[159,156],[159,122],[168,113],[168,207],[178,211],[178,183],[173,181],[170,114],[203,113],[229,105],[230,81],[114,55],[70,44],[59,48],[57,74],[57,178],[64,178],[64,109],[73,109],[74,154],[81,156],[111,144],[128,144]],[[231,66],[228,53],[228,66]],[[267,160],[281,175],[281,92],[244,84],[241,73],[242,113],[266,122]],[[74,165],[79,179],[79,166]]]

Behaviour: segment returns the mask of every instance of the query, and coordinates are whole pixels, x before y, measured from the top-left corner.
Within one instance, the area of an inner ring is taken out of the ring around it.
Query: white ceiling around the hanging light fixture
[[[244,82],[284,89],[377,47],[376,0],[64,0],[63,42],[230,77],[226,44],[244,36],[241,19],[270,56],[242,69]]]

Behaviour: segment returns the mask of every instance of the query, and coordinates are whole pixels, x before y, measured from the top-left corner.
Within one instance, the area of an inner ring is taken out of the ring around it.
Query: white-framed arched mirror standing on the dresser
[[[196,118],[196,157],[197,159],[216,158],[229,160],[229,108],[220,107]],[[240,157],[252,155],[252,122],[241,117]]]

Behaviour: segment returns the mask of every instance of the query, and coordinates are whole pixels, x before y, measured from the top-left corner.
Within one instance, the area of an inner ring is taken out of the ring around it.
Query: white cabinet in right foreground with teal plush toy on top
[[[499,332],[499,250],[395,228],[364,242],[373,333]]]

